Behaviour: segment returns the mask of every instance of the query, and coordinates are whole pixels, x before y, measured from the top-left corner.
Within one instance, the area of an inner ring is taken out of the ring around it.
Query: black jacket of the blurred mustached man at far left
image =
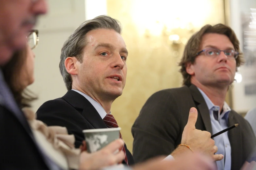
[[[0,169],[48,169],[24,114],[17,114],[0,105]]]

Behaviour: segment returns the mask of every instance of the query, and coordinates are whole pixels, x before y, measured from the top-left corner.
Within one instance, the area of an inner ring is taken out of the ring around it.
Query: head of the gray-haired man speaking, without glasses
[[[66,88],[118,97],[125,86],[128,51],[119,21],[98,16],[82,23],[64,43],[60,73]]]

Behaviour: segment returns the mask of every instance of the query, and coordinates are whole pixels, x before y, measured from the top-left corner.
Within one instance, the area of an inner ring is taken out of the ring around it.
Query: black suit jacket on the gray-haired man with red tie
[[[63,97],[45,102],[37,110],[37,119],[48,126],[65,126],[76,138],[79,148],[84,140],[82,130],[107,128],[94,106],[81,94],[69,90]],[[130,151],[126,149],[129,165],[134,164]],[[125,164],[125,162],[123,161]]]

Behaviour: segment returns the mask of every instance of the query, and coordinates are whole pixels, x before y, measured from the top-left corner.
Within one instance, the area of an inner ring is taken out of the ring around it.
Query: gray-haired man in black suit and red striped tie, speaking
[[[121,30],[120,22],[109,16],[98,16],[82,23],[61,50],[60,73],[68,92],[45,102],[37,111],[38,119],[47,125],[65,126],[74,134],[76,147],[84,140],[84,129],[118,127],[111,115],[111,105],[123,92],[128,57]],[[195,129],[196,117],[194,108],[183,132],[184,144],[221,160],[223,155],[214,155],[217,147],[210,133]],[[190,151],[184,146],[172,153],[175,159]],[[133,157],[126,145],[122,150],[125,153],[123,163],[132,165]]]

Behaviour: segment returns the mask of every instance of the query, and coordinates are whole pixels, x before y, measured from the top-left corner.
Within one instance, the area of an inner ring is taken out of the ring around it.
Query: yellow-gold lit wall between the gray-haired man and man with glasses
[[[147,98],[161,89],[181,86],[182,77],[177,63],[184,44],[179,44],[177,49],[168,40],[169,35],[178,34],[185,41],[204,24],[224,23],[224,5],[222,0],[180,0],[179,3],[107,0],[107,10],[108,15],[121,21],[122,36],[129,51],[126,87],[122,96],[114,101],[111,112],[122,128],[128,149],[132,151],[131,126]],[[194,29],[169,30],[174,23],[172,25],[168,21],[174,22],[177,18],[191,22]]]

